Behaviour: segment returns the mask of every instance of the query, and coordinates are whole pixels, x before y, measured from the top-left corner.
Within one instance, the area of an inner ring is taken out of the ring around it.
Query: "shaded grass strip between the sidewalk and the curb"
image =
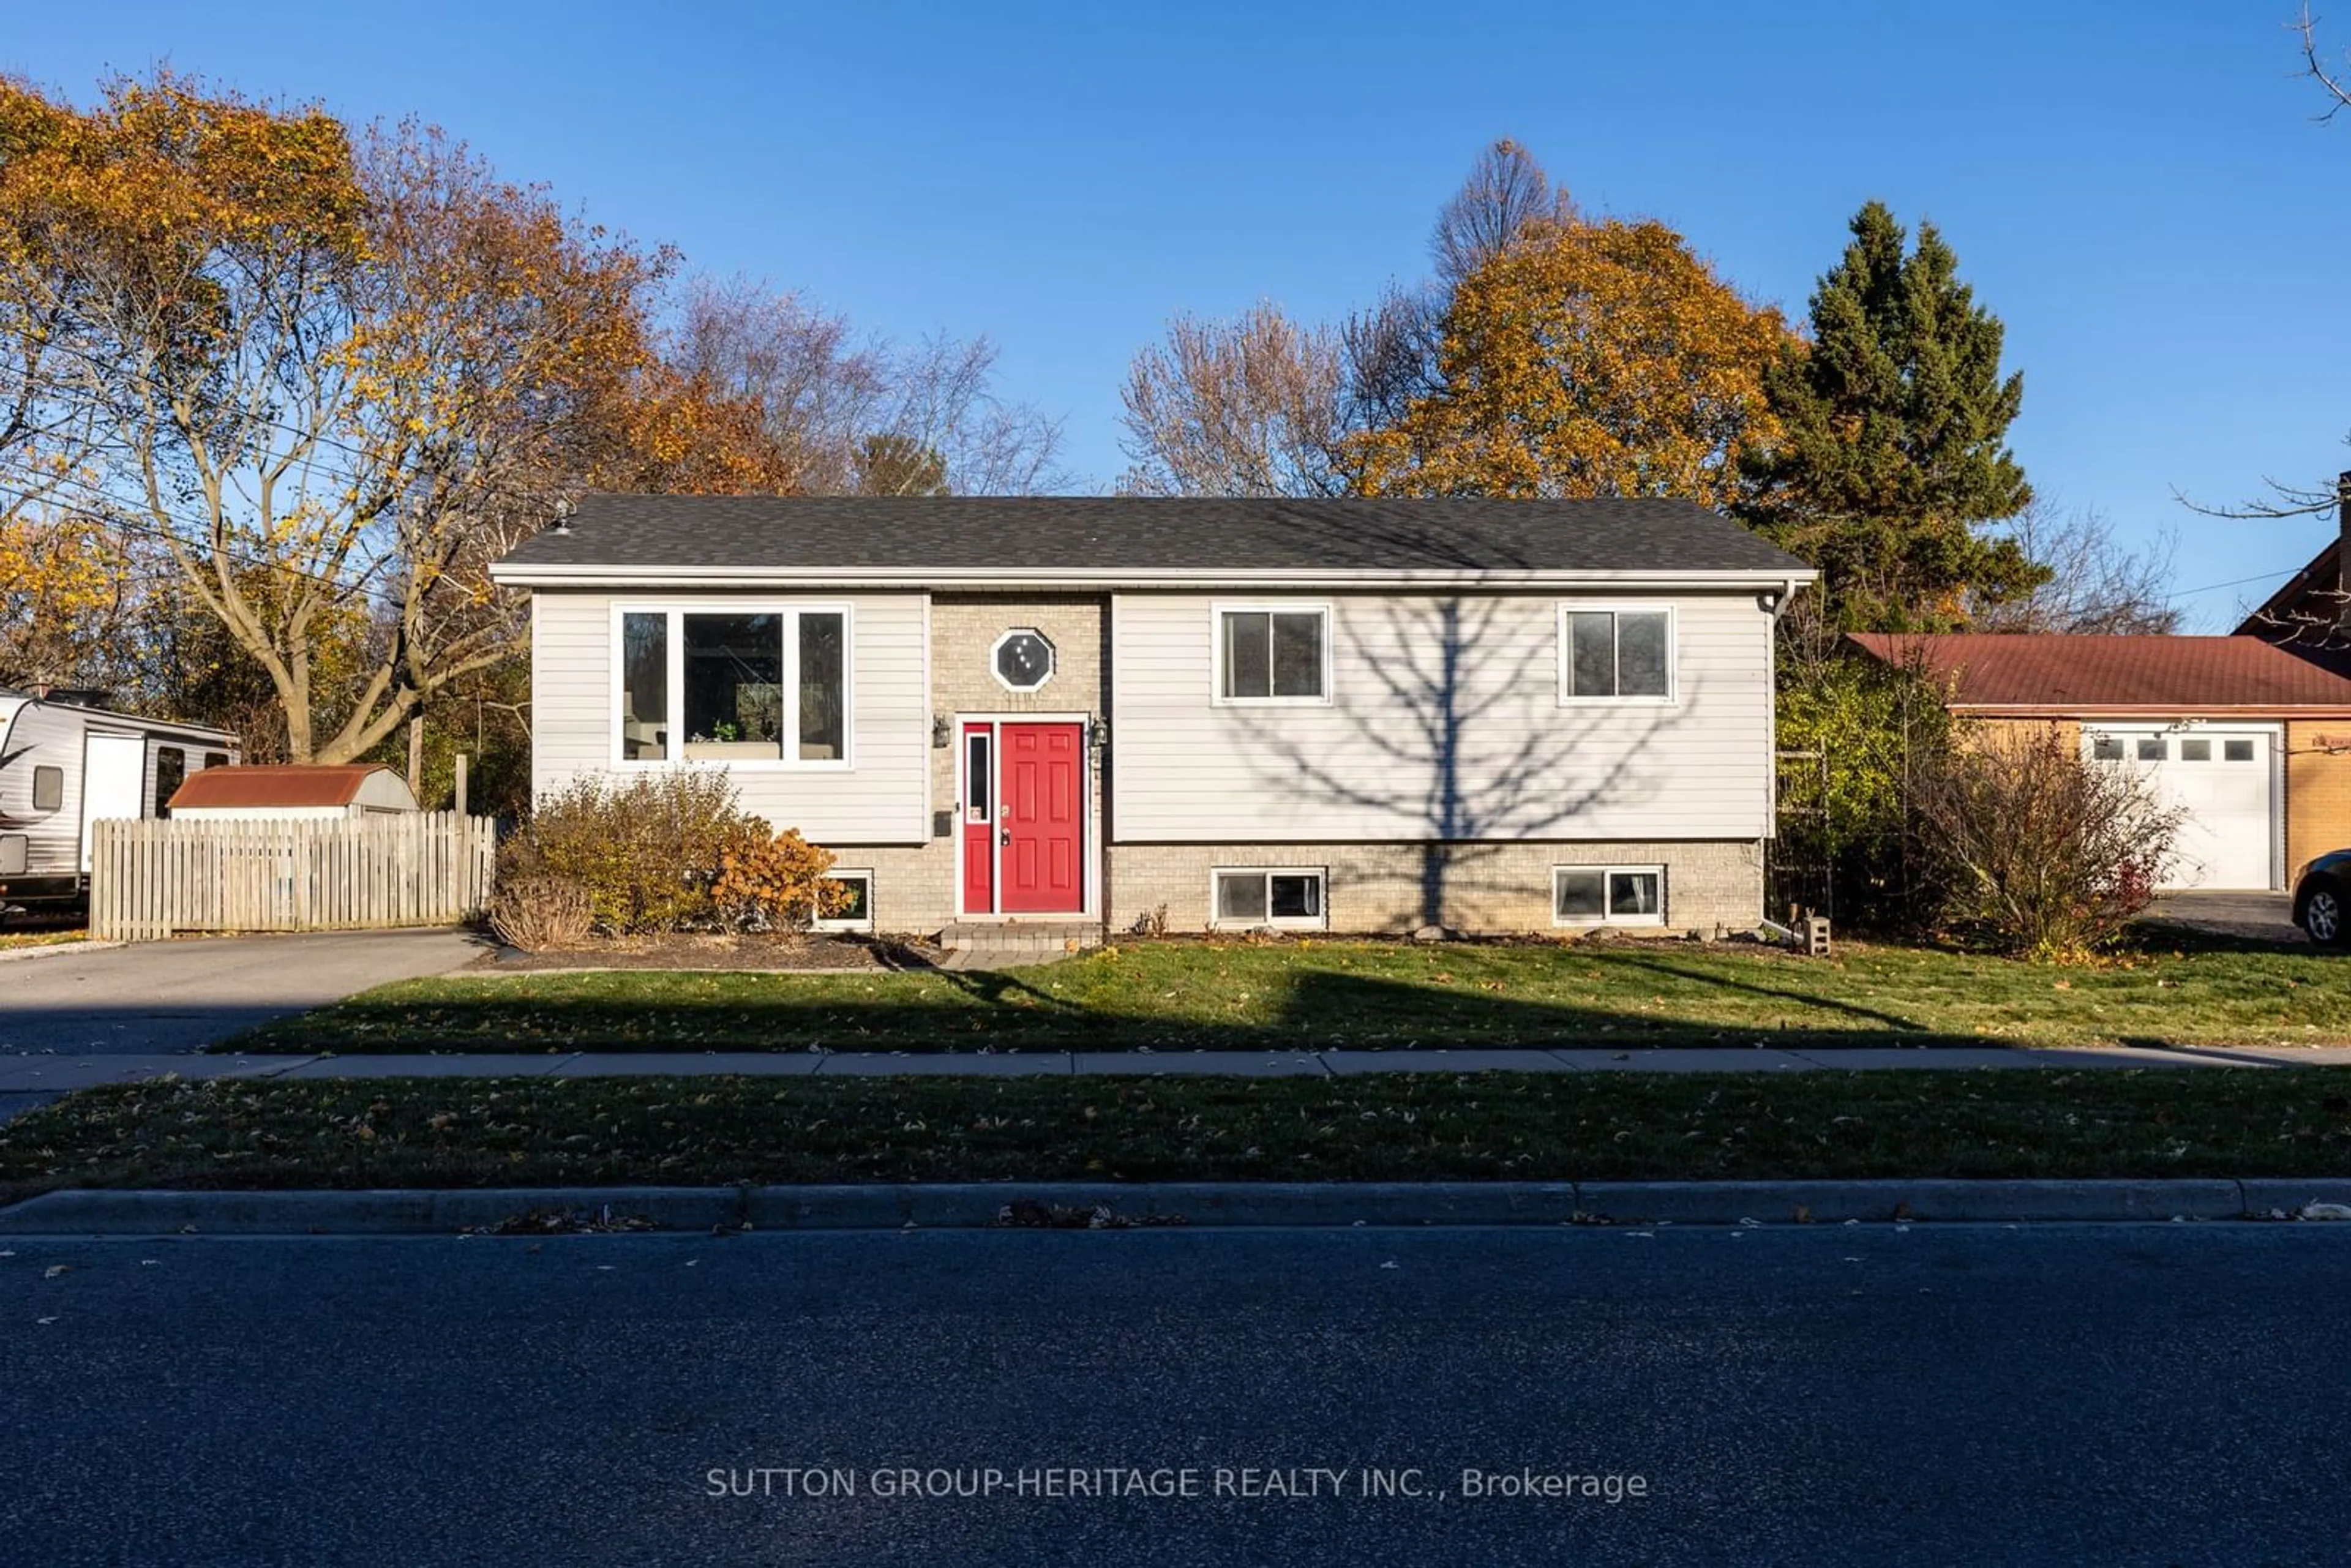
[[[0,1126],[0,1197],[1874,1175],[2351,1175],[2351,1070],[219,1079],[85,1088]]]

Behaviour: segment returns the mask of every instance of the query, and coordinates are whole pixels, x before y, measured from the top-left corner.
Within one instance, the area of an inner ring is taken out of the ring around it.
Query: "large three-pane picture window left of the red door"
[[[616,665],[618,762],[849,762],[846,609],[625,609]]]

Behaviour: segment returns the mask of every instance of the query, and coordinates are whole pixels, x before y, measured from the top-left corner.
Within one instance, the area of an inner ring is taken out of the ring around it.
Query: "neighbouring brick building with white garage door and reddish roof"
[[[2288,889],[2351,844],[2351,679],[2257,637],[1857,632],[1918,665],[1951,712],[2057,724],[2139,769],[2184,825],[2170,886]]]

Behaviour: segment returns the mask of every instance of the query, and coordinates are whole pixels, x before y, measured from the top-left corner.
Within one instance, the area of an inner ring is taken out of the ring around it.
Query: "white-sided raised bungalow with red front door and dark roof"
[[[1679,501],[592,496],[534,790],[724,766],[891,931],[1751,929],[1773,621]]]

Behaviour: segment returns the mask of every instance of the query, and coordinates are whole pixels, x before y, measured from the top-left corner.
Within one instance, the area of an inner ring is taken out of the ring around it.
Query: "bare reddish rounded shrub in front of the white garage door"
[[[2083,757],[2055,726],[1965,736],[1916,804],[1944,919],[2036,961],[2111,947],[2154,900],[2182,823],[2144,776]]]

